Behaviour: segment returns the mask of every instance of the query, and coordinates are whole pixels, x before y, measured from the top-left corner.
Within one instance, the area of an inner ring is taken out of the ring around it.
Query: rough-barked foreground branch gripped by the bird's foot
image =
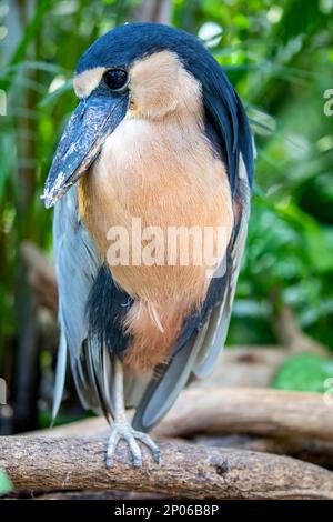
[[[162,465],[144,451],[129,465],[123,444],[105,469],[104,439],[3,436],[0,468],[20,490],[159,492],[189,499],[333,499],[333,473],[287,456],[161,442]]]

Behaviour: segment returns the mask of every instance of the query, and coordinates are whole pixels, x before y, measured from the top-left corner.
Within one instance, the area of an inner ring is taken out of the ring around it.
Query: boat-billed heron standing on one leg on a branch
[[[41,197],[54,205],[59,288],[52,414],[69,355],[83,406],[110,423],[107,466],[120,441],[133,466],[142,466],[143,446],[160,463],[150,430],[189,380],[212,371],[225,343],[253,135],[223,68],[195,36],[170,26],[125,23],[101,36],[79,59],[73,89],[79,104]],[[202,244],[189,234],[169,245],[168,263],[158,239],[171,229],[213,230],[214,262],[194,262]],[[181,244],[192,252],[186,262]]]

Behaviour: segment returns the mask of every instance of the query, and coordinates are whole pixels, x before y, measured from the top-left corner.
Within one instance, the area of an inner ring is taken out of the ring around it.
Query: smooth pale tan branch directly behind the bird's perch
[[[60,438],[99,436],[108,433],[108,425],[103,419],[89,419],[39,433]],[[228,433],[333,442],[333,405],[320,393],[192,388],[181,393],[153,431],[157,436],[181,438]]]

